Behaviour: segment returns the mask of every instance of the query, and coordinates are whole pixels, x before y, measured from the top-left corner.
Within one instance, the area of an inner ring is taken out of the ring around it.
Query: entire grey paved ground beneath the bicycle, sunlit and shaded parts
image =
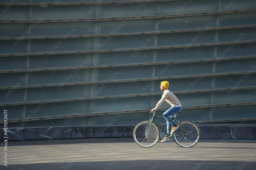
[[[8,141],[8,151],[1,145],[0,169],[256,169],[255,142],[199,140],[191,148],[182,148],[174,141],[159,140],[143,148],[133,138]]]

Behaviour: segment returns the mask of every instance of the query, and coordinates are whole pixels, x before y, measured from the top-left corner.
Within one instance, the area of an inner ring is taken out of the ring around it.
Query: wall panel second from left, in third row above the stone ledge
[[[91,96],[91,88],[92,85],[31,88],[27,89],[26,101],[89,98]]]

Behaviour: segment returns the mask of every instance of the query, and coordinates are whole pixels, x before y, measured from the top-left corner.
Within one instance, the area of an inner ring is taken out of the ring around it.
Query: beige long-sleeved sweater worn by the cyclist
[[[170,90],[166,89],[164,94],[162,95],[161,100],[158,101],[156,104],[155,110],[159,109],[161,104],[166,101],[169,103],[171,106],[180,106],[181,103],[179,102],[179,99],[172,93]]]

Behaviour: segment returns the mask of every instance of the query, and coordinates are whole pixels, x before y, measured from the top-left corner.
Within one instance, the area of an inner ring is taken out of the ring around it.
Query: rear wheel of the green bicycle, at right
[[[180,136],[175,136],[180,135]],[[180,122],[180,127],[174,132],[175,142],[184,148],[189,148],[194,145],[199,140],[200,130],[197,125],[190,121]]]

